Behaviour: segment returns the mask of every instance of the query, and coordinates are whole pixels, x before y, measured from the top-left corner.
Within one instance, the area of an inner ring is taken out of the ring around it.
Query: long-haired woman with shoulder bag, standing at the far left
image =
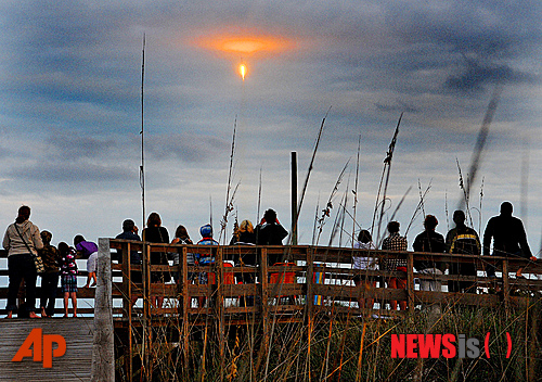
[[[43,247],[39,229],[30,220],[30,207],[24,205],[18,208],[15,222],[11,224],[3,237],[3,247],[8,251],[8,275],[10,285],[8,288],[7,318],[12,318],[13,310],[17,309],[16,300],[21,280],[26,284],[26,309],[28,317],[39,318],[36,315],[36,278],[38,265],[43,271],[43,263],[38,256],[38,250]],[[18,315],[21,316],[21,311]]]

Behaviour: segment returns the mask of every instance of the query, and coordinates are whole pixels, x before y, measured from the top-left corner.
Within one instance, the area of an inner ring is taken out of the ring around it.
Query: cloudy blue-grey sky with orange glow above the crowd
[[[115,237],[125,218],[142,228],[143,127],[146,215],[159,213],[170,235],[184,225],[194,240],[212,219],[217,238],[236,126],[238,187],[222,240],[235,216],[256,224],[270,207],[289,230],[291,153],[300,190],[326,116],[299,242],[313,242],[315,217],[348,163],[319,239],[328,244],[346,209],[332,244],[348,246],[352,230],[372,226],[403,113],[383,225],[395,214],[412,243],[423,214],[433,214],[446,234],[463,198],[459,167],[466,181],[496,92],[472,181],[472,225],[482,232],[511,201],[538,253],[541,16],[538,0],[2,1],[0,227],[26,204],[53,243]]]

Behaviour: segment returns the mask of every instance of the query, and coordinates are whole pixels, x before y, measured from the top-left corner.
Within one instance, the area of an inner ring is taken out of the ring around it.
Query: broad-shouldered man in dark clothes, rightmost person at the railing
[[[493,256],[522,257],[532,262],[537,257],[532,256],[524,224],[517,217],[512,216],[512,203],[501,204],[501,215],[489,219],[483,232],[483,255],[489,256],[491,239],[493,239]],[[486,268],[488,277],[495,277],[495,267],[488,265]],[[521,275],[522,268],[516,271],[517,279],[525,279]]]

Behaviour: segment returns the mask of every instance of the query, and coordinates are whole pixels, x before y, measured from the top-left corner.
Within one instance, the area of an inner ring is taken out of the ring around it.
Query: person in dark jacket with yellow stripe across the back
[[[455,228],[446,235],[446,249],[448,253],[460,255],[480,255],[480,239],[473,228],[465,226],[465,213],[457,209],[453,213]],[[452,262],[450,275],[476,276],[476,262],[473,258],[468,263]],[[476,293],[476,282],[473,281],[449,281],[450,292]]]

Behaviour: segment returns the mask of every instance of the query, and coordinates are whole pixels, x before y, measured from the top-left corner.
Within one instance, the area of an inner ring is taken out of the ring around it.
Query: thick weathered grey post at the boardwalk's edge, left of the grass
[[[114,382],[115,347],[109,239],[99,239],[96,273],[91,381]]]

